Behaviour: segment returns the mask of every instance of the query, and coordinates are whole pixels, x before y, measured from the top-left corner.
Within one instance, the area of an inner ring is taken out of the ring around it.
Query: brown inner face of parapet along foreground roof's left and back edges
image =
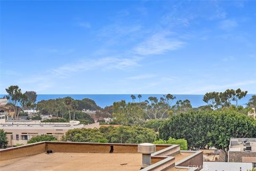
[[[138,144],[115,143],[78,143],[78,142],[39,142],[0,150],[0,161],[31,156],[51,149],[53,152],[98,152],[109,153],[113,145],[113,153],[138,153]],[[170,145],[156,145],[156,151],[165,149]]]

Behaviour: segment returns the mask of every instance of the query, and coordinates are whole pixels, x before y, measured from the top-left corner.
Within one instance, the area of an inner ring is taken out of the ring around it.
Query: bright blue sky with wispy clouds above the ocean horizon
[[[256,93],[256,1],[1,1],[0,94]]]

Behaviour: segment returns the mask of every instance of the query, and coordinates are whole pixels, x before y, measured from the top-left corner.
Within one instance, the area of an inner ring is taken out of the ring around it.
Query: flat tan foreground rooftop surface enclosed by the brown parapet
[[[0,161],[1,171],[138,171],[140,153],[71,153],[36,154],[33,156]]]

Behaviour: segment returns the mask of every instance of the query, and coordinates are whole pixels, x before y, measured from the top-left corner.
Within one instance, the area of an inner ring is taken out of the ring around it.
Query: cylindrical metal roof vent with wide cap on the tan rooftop
[[[156,145],[151,143],[138,144],[138,152],[142,153],[141,169],[151,164],[151,153],[156,152]]]

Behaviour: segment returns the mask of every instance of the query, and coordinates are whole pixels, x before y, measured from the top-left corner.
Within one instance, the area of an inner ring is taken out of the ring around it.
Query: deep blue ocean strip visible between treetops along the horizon
[[[138,94],[134,94],[136,96],[135,102],[139,102]],[[246,103],[251,99],[254,94],[247,94],[243,99],[238,101],[238,105],[246,105]],[[3,97],[4,94],[1,94],[0,97]],[[66,96],[70,96],[76,100],[82,100],[84,98],[92,99],[97,103],[101,108],[106,107],[107,105],[112,105],[114,102],[125,100],[126,102],[132,102],[131,94],[38,94],[37,102],[41,100],[49,100],[56,98],[63,98]],[[141,101],[145,101],[150,96],[162,97],[163,94],[141,94]],[[178,100],[186,100],[188,99],[191,102],[191,105],[196,108],[201,105],[206,105],[203,101],[204,95],[191,95],[191,94],[174,94],[176,99],[173,100],[172,105],[175,104]]]

